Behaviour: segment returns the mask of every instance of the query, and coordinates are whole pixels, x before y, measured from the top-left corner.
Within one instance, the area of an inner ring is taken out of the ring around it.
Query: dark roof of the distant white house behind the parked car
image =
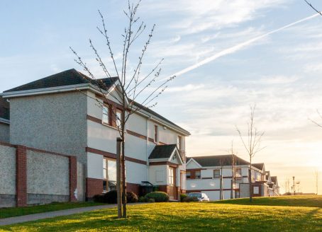
[[[233,164],[233,158],[235,158],[235,165],[248,165],[248,161],[244,161],[235,155],[223,155],[223,156],[194,156],[187,158],[187,162],[194,158],[194,160],[203,167],[211,166],[231,166]]]

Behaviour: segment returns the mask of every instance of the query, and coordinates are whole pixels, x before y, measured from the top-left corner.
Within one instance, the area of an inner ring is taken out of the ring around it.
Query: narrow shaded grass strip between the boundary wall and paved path
[[[48,211],[56,211],[62,209],[72,209],[79,207],[92,207],[94,205],[99,205],[99,203],[94,202],[65,202],[65,203],[52,203],[43,204],[30,207],[13,207],[13,208],[2,208],[0,209],[0,219],[8,218],[11,216],[23,216],[27,214],[38,214]]]

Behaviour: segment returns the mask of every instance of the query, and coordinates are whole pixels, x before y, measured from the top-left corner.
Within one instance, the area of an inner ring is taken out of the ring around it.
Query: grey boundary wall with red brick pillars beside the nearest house
[[[0,207],[76,200],[77,159],[0,142]]]

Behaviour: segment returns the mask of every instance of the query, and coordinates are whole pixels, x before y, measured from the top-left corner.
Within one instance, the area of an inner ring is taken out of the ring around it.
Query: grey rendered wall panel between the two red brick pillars
[[[27,150],[27,203],[67,202],[69,158]]]

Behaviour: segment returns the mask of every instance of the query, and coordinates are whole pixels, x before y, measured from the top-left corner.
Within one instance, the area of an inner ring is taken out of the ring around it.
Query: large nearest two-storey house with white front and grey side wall
[[[10,102],[10,120],[7,117],[6,124],[1,124],[7,130],[1,130],[0,138],[9,144],[75,156],[77,187],[73,191],[79,200],[115,188],[119,133],[112,112],[120,113],[123,108],[116,100],[119,79],[101,81],[113,93],[108,95],[109,104],[104,102],[96,84],[75,69],[0,95],[2,102]],[[126,124],[128,190],[138,194],[141,182],[149,181],[170,198],[178,199],[179,193],[186,190],[185,137],[190,134],[138,103],[135,107],[140,110]],[[0,105],[0,113],[1,109],[4,110]]]

